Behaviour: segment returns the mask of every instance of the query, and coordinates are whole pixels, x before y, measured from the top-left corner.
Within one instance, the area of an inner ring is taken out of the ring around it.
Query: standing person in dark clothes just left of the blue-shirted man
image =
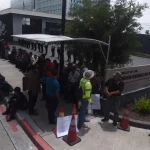
[[[31,71],[27,74],[29,80],[29,115],[37,115],[34,107],[37,102],[40,91],[40,73],[37,66],[32,66]]]

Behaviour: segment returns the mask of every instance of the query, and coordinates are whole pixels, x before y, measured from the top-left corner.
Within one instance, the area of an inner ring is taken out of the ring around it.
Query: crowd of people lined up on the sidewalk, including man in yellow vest
[[[35,46],[37,44],[35,43],[34,45],[33,42],[30,41],[20,40],[19,43],[27,48],[37,48],[37,46]],[[55,47],[52,46],[52,57],[55,56],[54,49]],[[61,95],[61,97],[66,100],[66,103],[72,103],[78,106],[78,102],[80,101],[78,128],[87,128],[84,122],[86,121],[87,107],[89,104],[92,104],[91,94],[101,94],[107,99],[106,105],[104,106],[104,119],[102,119],[102,121],[105,122],[109,120],[109,113],[113,108],[113,125],[117,125],[120,96],[124,89],[124,82],[121,79],[120,72],[116,72],[113,78],[106,81],[103,88],[99,75],[85,66],[81,67],[69,63],[67,67],[64,67],[62,76],[59,77],[59,64],[56,60],[51,62],[49,58],[45,58],[45,54],[39,57],[36,55],[33,56],[32,52],[27,53],[21,49],[17,51],[16,48],[13,47],[9,59],[12,63],[16,64],[16,67],[26,71],[27,82],[23,82],[23,87],[24,84],[26,84],[25,90],[28,90],[29,100],[27,102],[21,89],[16,87],[14,89],[14,95],[8,102],[9,105],[4,113],[11,113],[8,121],[13,119],[16,110],[20,108],[28,109],[29,115],[37,115],[35,104],[38,99],[38,93],[42,87],[43,97],[41,100],[45,100],[46,102],[48,121],[50,124],[56,123],[55,112],[60,103]]]

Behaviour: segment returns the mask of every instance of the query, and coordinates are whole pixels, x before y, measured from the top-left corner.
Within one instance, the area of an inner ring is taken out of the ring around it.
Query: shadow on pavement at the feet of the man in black
[[[116,132],[117,131],[117,127],[114,127],[111,123],[102,123],[99,122],[98,123],[100,125],[100,127],[102,128],[102,130],[107,131],[107,132]]]

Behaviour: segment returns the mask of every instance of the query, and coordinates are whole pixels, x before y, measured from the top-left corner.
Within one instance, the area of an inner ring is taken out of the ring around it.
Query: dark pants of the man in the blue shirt
[[[56,97],[46,96],[47,112],[49,122],[55,121],[55,112],[58,106],[58,99]]]

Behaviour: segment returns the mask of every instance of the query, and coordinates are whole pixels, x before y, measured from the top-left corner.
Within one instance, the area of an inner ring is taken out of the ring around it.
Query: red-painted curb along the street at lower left
[[[6,105],[6,98],[3,100],[4,105]],[[27,119],[20,119],[19,115],[16,114],[16,120],[39,150],[54,150],[40,135],[38,135]]]

